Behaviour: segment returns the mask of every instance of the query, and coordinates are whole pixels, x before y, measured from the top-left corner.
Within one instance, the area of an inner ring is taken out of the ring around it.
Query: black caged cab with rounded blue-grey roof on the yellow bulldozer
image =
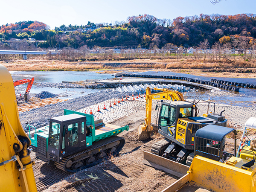
[[[234,133],[234,154],[224,151],[226,136]],[[218,125],[207,125],[195,133],[195,155],[216,161],[225,161],[227,157],[236,156],[236,130]]]

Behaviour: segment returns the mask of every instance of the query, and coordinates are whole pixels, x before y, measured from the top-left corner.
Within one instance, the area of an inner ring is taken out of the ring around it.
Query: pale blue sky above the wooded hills
[[[51,29],[55,26],[111,23],[128,16],[149,14],[157,18],[199,14],[256,14],[256,0],[2,0],[0,25],[23,20],[38,20]]]

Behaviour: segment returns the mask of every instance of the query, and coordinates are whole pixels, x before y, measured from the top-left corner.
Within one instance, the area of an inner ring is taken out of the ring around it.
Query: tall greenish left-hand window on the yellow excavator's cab
[[[176,120],[176,108],[170,105],[162,105],[160,111],[160,126],[171,126]]]

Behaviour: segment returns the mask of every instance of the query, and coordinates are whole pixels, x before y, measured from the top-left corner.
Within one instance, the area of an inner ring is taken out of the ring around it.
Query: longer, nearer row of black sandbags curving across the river
[[[224,86],[220,83],[213,82],[213,81],[203,81],[199,79],[192,79],[188,77],[180,77],[180,76],[157,76],[157,75],[141,75],[141,74],[122,74],[124,77],[144,77],[144,78],[156,78],[156,79],[180,79],[183,81],[193,82],[193,83],[199,83],[199,84],[207,84],[212,87],[218,87],[224,90],[232,90],[235,92],[239,92],[239,87],[232,87],[232,86]]]

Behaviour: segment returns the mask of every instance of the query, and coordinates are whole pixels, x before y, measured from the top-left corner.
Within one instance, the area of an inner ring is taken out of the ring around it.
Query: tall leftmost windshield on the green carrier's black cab
[[[50,122],[49,145],[55,149],[59,148],[61,125],[57,122]]]

